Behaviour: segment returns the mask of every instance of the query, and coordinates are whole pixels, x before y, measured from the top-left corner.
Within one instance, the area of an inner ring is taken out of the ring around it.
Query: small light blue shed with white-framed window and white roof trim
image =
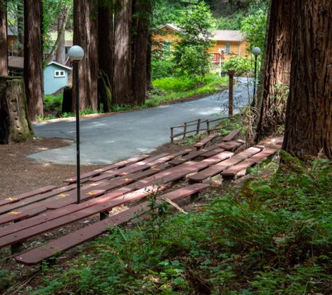
[[[68,85],[68,71],[70,70],[70,66],[59,64],[54,60],[50,61],[44,70],[45,94],[55,93],[60,88]]]

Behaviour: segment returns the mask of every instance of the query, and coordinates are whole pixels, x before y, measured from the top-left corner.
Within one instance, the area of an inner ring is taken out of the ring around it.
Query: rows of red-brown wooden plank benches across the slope
[[[209,136],[196,146],[196,150],[182,150],[175,154],[147,154],[106,166],[81,175],[81,203],[77,204],[77,178],[64,180],[64,187],[46,186],[41,189],[12,196],[0,201],[0,249],[10,246],[12,254],[21,252],[16,261],[33,265],[52,257],[59,251],[80,245],[106,231],[107,226],[124,224],[129,214],[138,208],[146,210],[147,203],[132,205],[149,194],[161,194],[162,198],[176,200],[185,196],[196,201],[199,192],[208,189],[217,178],[234,180],[240,172],[257,162],[271,157],[281,148],[250,147],[235,154],[243,141],[234,141],[238,131],[222,138],[223,143],[212,144],[215,136]],[[206,147],[210,143],[209,147]],[[204,147],[204,148],[203,148]],[[177,182],[180,189],[163,193]],[[110,215],[113,208],[126,204],[124,213]],[[130,204],[130,205],[129,205]],[[84,227],[22,253],[22,243],[48,231],[99,214],[100,222]],[[54,250],[51,250],[54,249]],[[47,251],[45,251],[47,250]]]

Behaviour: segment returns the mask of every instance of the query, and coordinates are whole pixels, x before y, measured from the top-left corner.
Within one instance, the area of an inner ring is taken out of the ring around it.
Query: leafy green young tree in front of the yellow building
[[[177,26],[180,41],[173,52],[177,73],[194,78],[196,83],[202,82],[210,68],[210,55],[205,51],[213,45],[210,38],[215,27],[210,8],[203,1],[193,1],[182,13]]]

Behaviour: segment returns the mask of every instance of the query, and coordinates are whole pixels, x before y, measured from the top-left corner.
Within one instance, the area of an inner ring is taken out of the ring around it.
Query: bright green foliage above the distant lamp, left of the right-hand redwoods
[[[256,46],[263,51],[266,35],[266,19],[267,10],[260,9],[241,22],[240,31],[247,36],[246,40],[249,43],[248,52],[251,52],[252,48]]]

